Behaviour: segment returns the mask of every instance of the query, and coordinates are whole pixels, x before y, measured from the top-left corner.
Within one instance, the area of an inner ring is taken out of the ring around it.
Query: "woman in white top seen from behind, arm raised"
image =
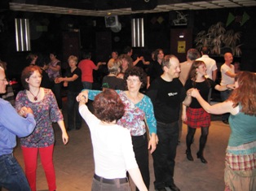
[[[135,160],[130,131],[117,124],[125,113],[125,105],[117,92],[105,89],[95,96],[95,115],[85,105],[88,99],[83,93],[77,96],[77,101],[80,114],[90,128],[94,150],[95,175],[91,190],[129,191],[126,171],[129,171],[139,190],[148,190]]]

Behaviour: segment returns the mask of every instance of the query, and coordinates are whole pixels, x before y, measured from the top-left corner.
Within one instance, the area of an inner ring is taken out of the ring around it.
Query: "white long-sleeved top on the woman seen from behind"
[[[127,128],[100,124],[86,105],[80,106],[79,112],[90,128],[96,175],[107,179],[124,178],[127,170],[138,167]]]

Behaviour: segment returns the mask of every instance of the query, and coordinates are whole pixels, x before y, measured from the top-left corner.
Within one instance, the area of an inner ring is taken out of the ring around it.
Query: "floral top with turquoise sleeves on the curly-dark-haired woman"
[[[100,93],[98,90],[89,90],[89,99],[94,99]],[[130,101],[125,91],[117,90],[121,101],[125,104],[125,114],[117,121],[117,124],[130,130],[132,136],[141,136],[146,132],[144,119],[147,120],[150,134],[157,133],[157,122],[150,98],[144,95],[142,100],[136,104]]]

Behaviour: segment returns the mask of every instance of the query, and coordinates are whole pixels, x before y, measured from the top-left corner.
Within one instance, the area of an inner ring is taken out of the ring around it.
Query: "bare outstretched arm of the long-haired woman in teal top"
[[[210,114],[219,115],[224,113],[232,113],[233,115],[236,115],[239,112],[239,107],[236,106],[235,108],[233,108],[233,102],[231,101],[220,102],[211,106],[201,97],[201,94],[197,89],[192,89],[191,94],[192,97],[197,99],[197,101],[204,108],[204,110]]]

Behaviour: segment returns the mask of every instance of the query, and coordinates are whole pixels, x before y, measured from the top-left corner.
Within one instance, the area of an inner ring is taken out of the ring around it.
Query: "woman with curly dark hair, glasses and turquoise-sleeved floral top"
[[[157,147],[157,122],[150,98],[139,92],[139,89],[147,84],[146,73],[141,67],[130,67],[126,70],[124,80],[127,85],[126,91],[116,90],[121,101],[125,104],[125,114],[117,120],[117,124],[130,130],[135,158],[141,171],[143,181],[149,189],[148,149],[154,152]],[[100,93],[97,90],[82,92],[86,98],[93,100]],[[146,124],[150,133],[148,141]]]

